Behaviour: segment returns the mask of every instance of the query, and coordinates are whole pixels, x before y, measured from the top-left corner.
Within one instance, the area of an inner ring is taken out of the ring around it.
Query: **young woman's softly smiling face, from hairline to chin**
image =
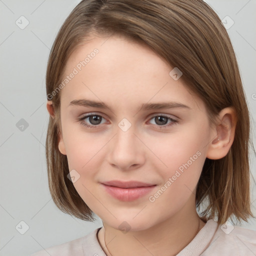
[[[123,221],[149,228],[194,200],[214,135],[202,100],[172,69],[146,45],[118,36],[94,37],[67,61],[59,150],[81,198],[116,229]]]

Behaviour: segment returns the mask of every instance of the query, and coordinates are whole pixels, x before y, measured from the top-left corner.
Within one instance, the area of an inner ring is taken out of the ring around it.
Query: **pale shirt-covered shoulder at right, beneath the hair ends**
[[[233,226],[229,222],[218,225],[210,244],[201,255],[208,256],[214,253],[223,256],[255,256],[256,230]]]

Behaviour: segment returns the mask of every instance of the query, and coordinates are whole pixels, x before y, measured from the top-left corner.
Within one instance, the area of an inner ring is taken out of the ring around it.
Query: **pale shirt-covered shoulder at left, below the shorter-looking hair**
[[[83,237],[79,237],[77,239],[61,243],[55,246],[51,246],[49,248],[45,248],[42,250],[39,250],[33,254],[30,254],[29,256],[83,256],[86,255],[84,253],[84,245],[86,245],[88,242],[96,242],[96,233],[100,228],[97,228],[87,235]]]

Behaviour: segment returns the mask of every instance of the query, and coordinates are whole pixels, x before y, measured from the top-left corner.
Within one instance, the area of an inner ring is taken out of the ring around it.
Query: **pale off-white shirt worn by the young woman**
[[[100,228],[83,237],[40,250],[30,256],[106,256],[97,240]],[[240,226],[221,226],[210,219],[176,256],[199,255],[255,256],[256,230]]]

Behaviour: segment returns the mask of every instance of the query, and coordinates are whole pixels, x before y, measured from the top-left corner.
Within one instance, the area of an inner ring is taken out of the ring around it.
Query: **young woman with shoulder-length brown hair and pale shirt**
[[[83,0],[46,73],[49,188],[102,227],[41,255],[255,255],[250,119],[202,0]],[[228,222],[227,222],[228,221]]]

